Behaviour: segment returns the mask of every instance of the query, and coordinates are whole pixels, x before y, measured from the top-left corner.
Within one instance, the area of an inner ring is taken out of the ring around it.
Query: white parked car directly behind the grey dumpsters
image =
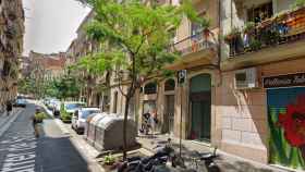
[[[76,131],[77,134],[84,133],[86,126],[86,120],[94,113],[101,113],[99,108],[82,108],[76,110],[72,115],[71,127]]]

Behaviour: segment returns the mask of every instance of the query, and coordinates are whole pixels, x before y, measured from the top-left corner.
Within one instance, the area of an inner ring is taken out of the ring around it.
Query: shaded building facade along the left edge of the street
[[[19,61],[23,51],[22,0],[0,1],[0,102],[17,94]]]

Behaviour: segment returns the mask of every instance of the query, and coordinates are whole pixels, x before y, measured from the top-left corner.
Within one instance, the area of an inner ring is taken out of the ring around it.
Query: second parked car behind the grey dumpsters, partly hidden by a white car
[[[63,102],[60,107],[60,119],[63,122],[71,122],[73,113],[75,113],[76,110],[83,107],[85,107],[84,102],[77,102],[77,101]]]

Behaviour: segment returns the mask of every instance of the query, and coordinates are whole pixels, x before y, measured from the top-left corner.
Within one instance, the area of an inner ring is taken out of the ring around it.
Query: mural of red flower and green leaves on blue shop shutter
[[[305,170],[305,88],[268,90],[270,163]]]

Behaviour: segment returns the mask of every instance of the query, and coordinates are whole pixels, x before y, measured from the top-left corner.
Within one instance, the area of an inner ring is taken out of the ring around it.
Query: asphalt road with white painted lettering
[[[28,105],[0,137],[0,172],[87,172],[88,164],[52,119],[39,126],[36,138]]]

